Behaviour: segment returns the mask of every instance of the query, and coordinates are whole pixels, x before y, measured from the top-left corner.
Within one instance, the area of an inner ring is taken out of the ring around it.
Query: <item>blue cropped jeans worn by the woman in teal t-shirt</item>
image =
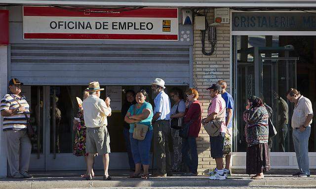
[[[129,133],[130,145],[135,163],[142,163],[143,165],[150,164],[150,147],[153,138],[153,130],[148,130],[144,140],[137,140],[133,138],[133,133]]]

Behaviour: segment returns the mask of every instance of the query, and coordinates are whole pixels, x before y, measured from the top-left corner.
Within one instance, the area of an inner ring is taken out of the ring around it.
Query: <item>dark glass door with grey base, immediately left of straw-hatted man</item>
[[[46,170],[84,170],[83,157],[73,155],[75,132],[73,120],[78,113],[76,96],[81,86],[49,86],[46,88],[48,126],[46,131]]]

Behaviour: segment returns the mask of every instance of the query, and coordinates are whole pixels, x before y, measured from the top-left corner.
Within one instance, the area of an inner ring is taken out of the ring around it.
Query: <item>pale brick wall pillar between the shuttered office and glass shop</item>
[[[210,9],[206,17],[209,24],[214,22],[214,9]],[[202,105],[202,117],[207,116],[207,107],[210,103],[208,91],[205,90],[211,84],[223,79],[228,83],[230,89],[230,25],[219,24],[217,28],[217,44],[215,51],[211,56],[202,54],[202,44],[200,31],[194,30],[194,87],[199,93],[198,100]],[[205,36],[205,51],[210,51],[210,45],[207,41],[207,32]],[[197,138],[198,168],[197,172],[201,175],[216,167],[215,160],[210,157],[209,135],[201,127]]]

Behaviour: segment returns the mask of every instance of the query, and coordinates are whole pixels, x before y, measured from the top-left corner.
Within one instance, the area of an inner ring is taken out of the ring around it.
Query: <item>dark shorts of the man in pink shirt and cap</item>
[[[211,157],[212,158],[223,158],[223,148],[225,140],[225,132],[220,132],[218,136],[210,136],[211,142]]]

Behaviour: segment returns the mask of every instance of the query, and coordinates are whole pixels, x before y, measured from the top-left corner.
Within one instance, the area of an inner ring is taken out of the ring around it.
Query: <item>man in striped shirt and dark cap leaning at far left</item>
[[[11,79],[9,93],[2,97],[0,103],[8,165],[11,176],[17,179],[32,177],[28,173],[32,149],[31,141],[27,135],[27,117],[30,117],[30,105],[25,96],[21,95],[22,85],[23,83],[18,79]]]

